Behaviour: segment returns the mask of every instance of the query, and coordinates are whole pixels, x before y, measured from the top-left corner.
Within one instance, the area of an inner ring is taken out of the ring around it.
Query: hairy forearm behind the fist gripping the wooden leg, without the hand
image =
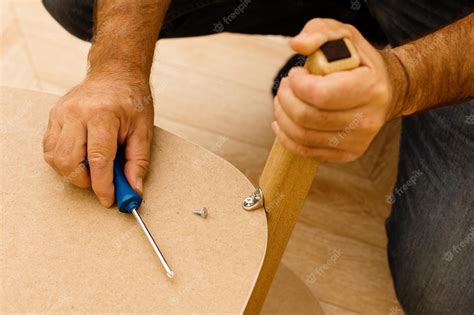
[[[394,116],[474,96],[474,14],[385,54],[394,82]]]

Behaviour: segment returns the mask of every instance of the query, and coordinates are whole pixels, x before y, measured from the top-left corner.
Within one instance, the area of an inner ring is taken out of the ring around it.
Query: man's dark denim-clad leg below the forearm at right
[[[405,117],[387,221],[397,297],[407,314],[472,314],[472,104]],[[455,149],[453,149],[455,148]],[[470,312],[469,312],[470,311]]]

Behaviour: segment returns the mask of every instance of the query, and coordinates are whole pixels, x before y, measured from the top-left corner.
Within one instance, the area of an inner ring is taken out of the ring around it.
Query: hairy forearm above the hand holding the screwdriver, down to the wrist
[[[89,75],[149,79],[158,33],[170,0],[96,0]]]

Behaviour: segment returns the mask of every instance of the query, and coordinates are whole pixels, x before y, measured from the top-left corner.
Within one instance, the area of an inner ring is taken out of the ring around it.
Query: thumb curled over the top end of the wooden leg
[[[312,19],[290,40],[290,46],[296,52],[309,56],[326,42],[343,37],[353,38],[352,29],[347,24],[332,19]]]

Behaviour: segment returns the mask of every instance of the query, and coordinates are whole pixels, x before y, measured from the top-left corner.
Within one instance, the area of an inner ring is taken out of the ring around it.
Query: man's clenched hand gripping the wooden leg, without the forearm
[[[272,127],[279,141],[296,154],[320,161],[357,159],[399,112],[384,58],[353,26],[313,19],[290,45],[310,55],[325,42],[343,37],[358,50],[359,68],[326,76],[293,68],[274,99]]]

